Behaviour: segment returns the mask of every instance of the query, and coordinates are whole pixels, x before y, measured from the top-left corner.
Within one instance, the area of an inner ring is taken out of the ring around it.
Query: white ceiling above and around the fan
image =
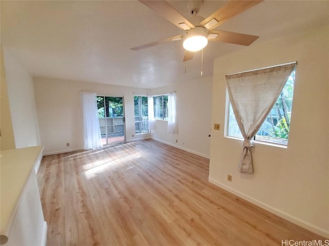
[[[33,76],[156,88],[200,77],[201,55],[182,62],[182,41],[130,48],[182,34],[138,1],[1,1],[1,44]],[[169,1],[187,19],[187,1]],[[209,16],[226,1],[204,1]],[[258,35],[252,45],[329,23],[329,1],[264,1],[217,30]],[[215,57],[244,46],[209,42],[204,76]]]

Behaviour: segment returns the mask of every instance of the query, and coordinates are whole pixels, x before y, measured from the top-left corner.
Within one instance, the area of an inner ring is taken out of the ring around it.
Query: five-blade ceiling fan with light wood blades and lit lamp
[[[208,40],[248,46],[258,39],[259,36],[219,31],[214,29],[222,25],[229,18],[240,14],[263,1],[264,0],[231,0],[207,18],[197,15],[203,1],[188,1],[188,8],[190,9],[190,14],[192,15],[190,22],[166,1],[139,0],[139,2],[148,6],[162,17],[165,17],[169,20],[169,22],[178,28],[184,30],[185,34],[136,46],[131,48],[131,50],[141,50],[170,41],[183,39],[183,47],[186,50],[184,61],[186,61],[193,58],[193,52],[202,50],[206,47]]]

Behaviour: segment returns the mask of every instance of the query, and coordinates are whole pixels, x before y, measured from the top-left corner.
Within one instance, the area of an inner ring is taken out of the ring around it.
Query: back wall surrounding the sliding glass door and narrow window
[[[41,144],[45,154],[83,148],[81,92],[123,96],[126,117],[126,140],[149,138],[150,134],[135,135],[134,93],[147,95],[146,89],[85,83],[50,78],[34,78],[35,102],[38,112]],[[132,137],[132,135],[135,135]],[[70,146],[66,147],[69,142]]]

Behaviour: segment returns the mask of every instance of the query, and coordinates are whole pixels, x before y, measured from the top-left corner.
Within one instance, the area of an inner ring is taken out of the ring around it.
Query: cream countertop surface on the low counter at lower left
[[[8,236],[12,219],[22,198],[26,182],[42,157],[42,146],[0,152],[0,235]]]

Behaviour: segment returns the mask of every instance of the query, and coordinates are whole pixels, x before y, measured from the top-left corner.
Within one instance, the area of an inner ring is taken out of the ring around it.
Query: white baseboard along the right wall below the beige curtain
[[[239,196],[239,197],[241,197],[241,198],[257,205],[258,207],[261,207],[262,209],[265,209],[265,210],[267,210],[267,211],[269,211],[269,212],[271,212],[275,215],[280,216],[281,218],[284,218],[284,219],[286,219],[290,222],[293,222],[293,223],[297,224],[298,226],[303,227],[303,228],[305,228],[305,229],[307,229],[311,232],[314,232],[314,233],[319,234],[323,237],[329,238],[329,231],[326,231],[326,230],[321,229],[317,226],[314,226],[314,224],[310,224],[310,223],[308,223],[306,221],[303,221],[303,220],[301,220],[301,219],[299,219],[299,218],[297,218],[293,215],[287,214],[287,213],[285,213],[285,212],[283,212],[279,209],[273,208],[273,207],[269,206],[268,204],[266,204],[264,202],[261,202],[261,201],[259,201],[257,199],[254,199],[254,198],[252,198],[252,197],[250,197],[246,194],[243,194],[240,191],[232,189],[232,188],[224,185],[221,182],[217,182],[216,180],[211,179],[210,177],[208,178],[208,180],[209,180],[209,182],[213,183],[215,186],[221,187],[224,190],[226,190],[230,193],[233,193],[234,195],[237,195],[237,196]]]

